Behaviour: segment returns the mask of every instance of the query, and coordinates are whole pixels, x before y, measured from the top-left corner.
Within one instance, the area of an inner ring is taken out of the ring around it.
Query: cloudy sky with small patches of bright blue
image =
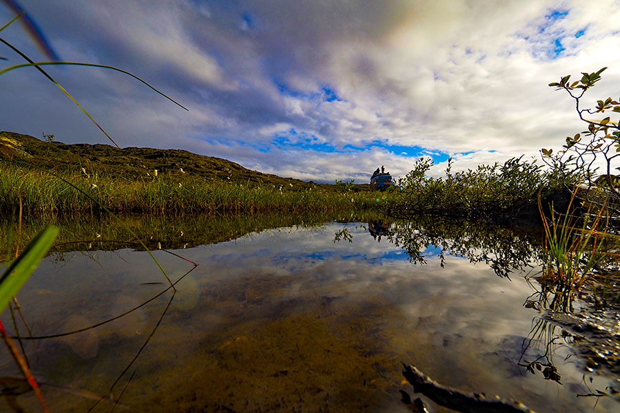
[[[0,27],[14,17],[0,1]],[[121,147],[186,149],[283,177],[368,182],[560,149],[586,125],[561,76],[620,97],[620,0],[19,0],[62,61],[45,70]],[[24,23],[0,32],[49,61]],[[39,39],[40,40],[40,39]],[[24,63],[0,43],[0,68]],[[0,76],[0,131],[105,135],[33,67]],[[612,118],[612,120],[614,120]]]

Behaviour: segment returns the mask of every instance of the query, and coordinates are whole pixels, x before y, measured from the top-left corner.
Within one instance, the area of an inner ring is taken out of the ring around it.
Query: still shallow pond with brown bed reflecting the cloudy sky
[[[64,222],[73,235],[19,292],[19,312],[2,314],[52,412],[411,412],[402,363],[537,412],[618,411],[587,396],[620,387],[579,351],[588,337],[533,298],[535,232],[363,216],[149,219],[127,222],[176,292],[112,220]],[[8,351],[0,361],[6,388],[20,374]],[[0,400],[19,408],[41,410],[32,392]]]

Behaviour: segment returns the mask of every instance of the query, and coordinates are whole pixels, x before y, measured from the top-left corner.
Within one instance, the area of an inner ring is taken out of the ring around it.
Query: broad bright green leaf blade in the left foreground
[[[46,226],[4,271],[0,277],[0,313],[11,297],[19,291],[19,288],[30,277],[34,268],[37,268],[56,239],[58,231],[58,226]]]

